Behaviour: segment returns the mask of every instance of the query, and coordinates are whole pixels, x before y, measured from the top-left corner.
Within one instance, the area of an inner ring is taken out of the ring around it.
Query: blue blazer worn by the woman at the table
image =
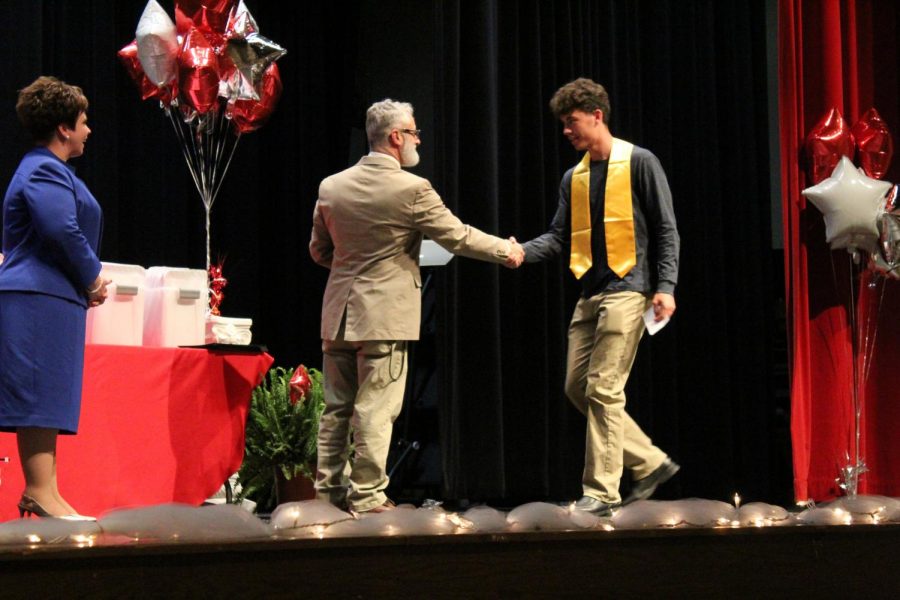
[[[46,148],[19,163],[3,198],[0,291],[37,292],[87,306],[100,274],[103,211],[75,170]]]

